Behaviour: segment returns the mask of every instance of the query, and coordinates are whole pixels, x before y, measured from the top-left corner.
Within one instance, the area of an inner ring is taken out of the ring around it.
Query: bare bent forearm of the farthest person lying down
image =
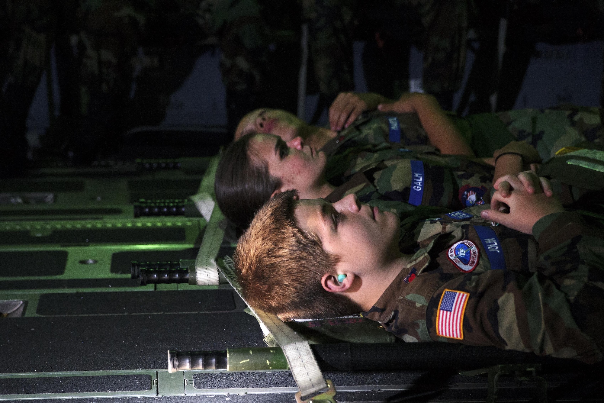
[[[411,99],[413,109],[428,135],[432,146],[443,154],[474,156],[455,124],[445,115],[432,95],[416,94]]]

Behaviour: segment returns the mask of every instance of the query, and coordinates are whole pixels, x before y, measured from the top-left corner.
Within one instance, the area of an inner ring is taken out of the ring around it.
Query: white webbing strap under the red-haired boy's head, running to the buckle
[[[245,301],[245,298],[241,295],[239,283],[237,283],[233,259],[225,256],[223,263],[224,266],[219,267],[220,271],[237,291],[237,294]],[[315,355],[312,353],[308,341],[301,338],[300,335],[283,323],[277,315],[253,309],[249,304],[248,307],[260,322],[263,332],[266,328],[283,350],[285,358],[288,360],[289,370],[294,376],[294,381],[298,385],[301,395],[313,395],[321,389],[327,388],[323,373],[321,373],[319,364],[316,363]]]

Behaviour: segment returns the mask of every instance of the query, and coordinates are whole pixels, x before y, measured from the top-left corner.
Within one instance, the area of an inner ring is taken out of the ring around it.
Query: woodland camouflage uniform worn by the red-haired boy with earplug
[[[549,214],[528,235],[492,227],[480,218],[483,208],[464,210],[463,219],[443,215],[403,225],[399,248],[414,255],[364,317],[408,342],[492,345],[586,363],[602,360],[602,216],[587,225],[577,213]],[[476,228],[496,236],[479,236]],[[449,257],[460,241],[478,250],[475,268],[467,272]],[[437,330],[446,290],[467,295],[456,338]]]

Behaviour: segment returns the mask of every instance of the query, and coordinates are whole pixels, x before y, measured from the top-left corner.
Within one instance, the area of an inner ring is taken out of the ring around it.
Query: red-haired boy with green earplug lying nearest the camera
[[[403,224],[355,195],[278,193],[237,245],[243,295],[283,320],[362,312],[408,342],[601,361],[603,221],[565,211],[533,172],[503,182],[490,209]]]

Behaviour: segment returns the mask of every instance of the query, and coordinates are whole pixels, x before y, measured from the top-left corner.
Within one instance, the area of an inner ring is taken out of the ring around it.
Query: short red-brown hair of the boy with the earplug
[[[252,308],[282,319],[360,312],[350,298],[323,289],[321,277],[334,271],[338,257],[298,227],[295,195],[290,190],[269,199],[239,239],[233,260],[243,296]]]

